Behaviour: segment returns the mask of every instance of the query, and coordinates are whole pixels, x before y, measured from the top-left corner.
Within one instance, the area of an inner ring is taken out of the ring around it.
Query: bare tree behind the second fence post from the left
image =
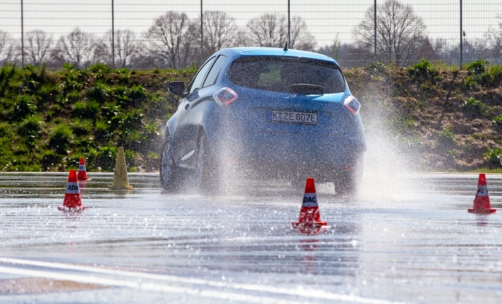
[[[139,60],[141,41],[132,30],[116,30],[115,43],[112,46],[112,30],[108,30],[103,39],[96,42],[95,52],[101,62],[113,66],[115,48],[115,67],[132,68]]]

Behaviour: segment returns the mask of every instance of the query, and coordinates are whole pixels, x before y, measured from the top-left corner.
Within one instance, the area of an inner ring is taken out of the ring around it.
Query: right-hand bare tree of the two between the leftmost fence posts
[[[51,55],[59,65],[68,63],[82,69],[95,62],[95,37],[74,28],[68,35],[59,38]]]

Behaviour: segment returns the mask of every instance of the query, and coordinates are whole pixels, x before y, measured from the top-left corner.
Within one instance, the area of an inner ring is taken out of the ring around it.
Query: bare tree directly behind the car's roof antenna
[[[288,39],[288,20],[277,13],[264,13],[247,23],[248,40],[260,47],[284,47]],[[315,37],[308,31],[307,24],[299,16],[291,18],[291,33],[288,47],[312,51]]]

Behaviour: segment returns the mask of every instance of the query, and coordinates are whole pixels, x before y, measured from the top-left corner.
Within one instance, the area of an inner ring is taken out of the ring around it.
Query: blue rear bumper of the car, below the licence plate
[[[219,168],[254,177],[294,179],[313,176],[331,181],[357,170],[366,151],[363,134],[217,134],[209,139]]]

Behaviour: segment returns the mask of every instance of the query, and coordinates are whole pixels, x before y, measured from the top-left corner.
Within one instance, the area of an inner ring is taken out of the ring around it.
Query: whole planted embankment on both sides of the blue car
[[[465,68],[423,59],[407,69],[375,62],[344,74],[363,106],[363,124],[389,129],[395,135],[389,144],[406,146],[410,142],[399,139],[413,139],[412,146],[423,153],[418,161],[427,168],[442,163],[435,169],[500,173],[483,153],[502,142],[502,107],[493,102],[499,98],[495,88],[502,86],[502,66],[479,61]],[[88,170],[112,171],[120,145],[130,170],[157,170],[165,121],[179,100],[166,84],[189,83],[196,72],[197,66],[153,71],[103,64],[89,69],[66,64],[60,71],[3,66],[0,170],[61,171],[84,157]],[[476,126],[469,125],[473,121]],[[492,154],[489,159],[496,157]],[[481,168],[459,165],[461,158],[479,160]]]

